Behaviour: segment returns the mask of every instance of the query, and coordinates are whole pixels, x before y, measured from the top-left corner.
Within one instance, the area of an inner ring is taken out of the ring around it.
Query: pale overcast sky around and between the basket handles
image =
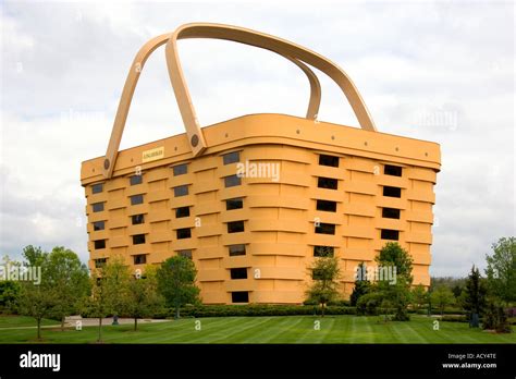
[[[515,234],[511,2],[2,2],[0,255],[65,245],[87,259],[83,160],[105,154],[139,47],[195,21],[277,35],[337,62],[380,131],[438,142],[433,276],[464,276]],[[250,47],[180,41],[202,125],[246,113],[303,115],[306,78]],[[183,133],[163,49],[146,64],[122,148]],[[321,76],[321,75],[320,75]],[[357,121],[321,76],[319,119]]]

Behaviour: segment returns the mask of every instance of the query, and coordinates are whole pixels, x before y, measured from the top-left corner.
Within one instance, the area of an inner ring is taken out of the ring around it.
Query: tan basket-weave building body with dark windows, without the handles
[[[398,242],[430,284],[435,143],[284,114],[253,114],[83,162],[89,266],[115,255],[145,269],[191,257],[205,304],[299,304],[323,253],[342,291]]]

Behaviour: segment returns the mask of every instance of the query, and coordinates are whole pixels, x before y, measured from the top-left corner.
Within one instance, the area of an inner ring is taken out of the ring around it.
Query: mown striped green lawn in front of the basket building
[[[25,317],[0,317],[0,343],[36,342],[35,329],[12,329],[15,319],[26,327]],[[378,317],[356,316],[284,316],[200,318],[201,330],[195,330],[193,318],[160,323],[143,323],[137,332],[133,326],[106,326],[106,343],[516,343],[516,330],[511,334],[492,334],[472,330],[464,322],[440,322],[433,330],[433,319],[413,316],[409,322],[380,322]],[[320,330],[315,330],[315,321]],[[46,321],[46,323],[58,323]],[[34,320],[33,320],[34,325]],[[9,328],[9,329],[8,329]],[[47,343],[93,343],[96,327],[82,331],[42,330]]]

